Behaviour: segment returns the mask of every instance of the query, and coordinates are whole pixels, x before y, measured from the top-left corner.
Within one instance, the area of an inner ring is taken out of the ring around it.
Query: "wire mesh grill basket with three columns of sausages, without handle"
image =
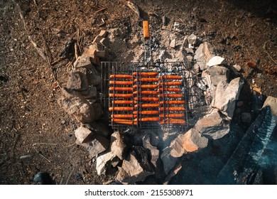
[[[193,64],[103,62],[101,100],[112,128],[188,127],[190,109],[209,103],[195,92],[202,77],[188,70]]]

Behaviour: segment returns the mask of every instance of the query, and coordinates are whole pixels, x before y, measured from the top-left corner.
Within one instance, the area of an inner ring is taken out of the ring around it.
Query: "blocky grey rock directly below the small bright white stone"
[[[223,66],[214,65],[207,69],[207,73],[211,77],[212,85],[217,86],[220,81],[228,82],[229,69]]]

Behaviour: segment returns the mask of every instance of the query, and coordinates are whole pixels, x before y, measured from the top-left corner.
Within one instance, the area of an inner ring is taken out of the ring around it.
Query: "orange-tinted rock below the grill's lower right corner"
[[[188,130],[182,138],[183,149],[188,152],[197,151],[207,147],[208,139],[202,136],[197,130]]]

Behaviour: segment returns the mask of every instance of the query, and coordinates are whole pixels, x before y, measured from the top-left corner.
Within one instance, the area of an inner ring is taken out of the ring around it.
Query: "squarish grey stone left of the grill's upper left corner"
[[[67,80],[67,88],[76,91],[87,90],[87,75],[79,71],[70,72],[69,78]]]

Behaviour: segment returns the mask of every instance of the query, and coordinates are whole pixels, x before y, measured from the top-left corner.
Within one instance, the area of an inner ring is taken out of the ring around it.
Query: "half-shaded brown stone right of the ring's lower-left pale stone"
[[[109,148],[109,140],[103,136],[97,135],[94,140],[89,142],[89,156],[94,158],[98,154],[106,151]]]

